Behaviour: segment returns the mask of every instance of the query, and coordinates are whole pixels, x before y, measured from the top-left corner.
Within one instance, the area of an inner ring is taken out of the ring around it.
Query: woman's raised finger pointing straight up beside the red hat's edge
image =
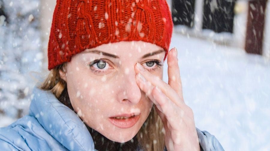
[[[171,49],[170,52],[168,53],[167,63],[168,63],[168,84],[173,88],[173,90],[176,91],[179,97],[182,98],[182,100],[184,100],[176,47]]]

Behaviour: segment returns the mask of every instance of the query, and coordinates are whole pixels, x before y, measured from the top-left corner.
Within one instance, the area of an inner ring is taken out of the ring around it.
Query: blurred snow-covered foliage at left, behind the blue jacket
[[[0,0],[0,127],[28,113],[43,53],[39,0]]]

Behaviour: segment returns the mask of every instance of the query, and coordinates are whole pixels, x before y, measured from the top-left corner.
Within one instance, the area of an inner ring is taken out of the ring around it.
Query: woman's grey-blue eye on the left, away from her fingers
[[[110,68],[110,64],[105,59],[97,59],[88,64],[90,70],[92,70],[94,73],[102,73],[106,72]]]

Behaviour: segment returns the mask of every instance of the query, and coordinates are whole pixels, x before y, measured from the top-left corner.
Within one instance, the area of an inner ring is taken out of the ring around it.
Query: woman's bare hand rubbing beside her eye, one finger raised
[[[177,50],[168,53],[168,84],[137,63],[137,83],[155,104],[165,129],[165,144],[169,151],[199,151],[193,111],[183,98]]]

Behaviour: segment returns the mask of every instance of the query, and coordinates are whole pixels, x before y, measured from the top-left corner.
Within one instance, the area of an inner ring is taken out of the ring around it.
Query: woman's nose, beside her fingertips
[[[129,101],[132,104],[139,103],[141,99],[141,90],[136,82],[136,73],[134,69],[130,72],[125,72],[122,76],[120,86],[119,100]],[[122,88],[121,88],[122,87]],[[121,93],[122,92],[122,93]]]

